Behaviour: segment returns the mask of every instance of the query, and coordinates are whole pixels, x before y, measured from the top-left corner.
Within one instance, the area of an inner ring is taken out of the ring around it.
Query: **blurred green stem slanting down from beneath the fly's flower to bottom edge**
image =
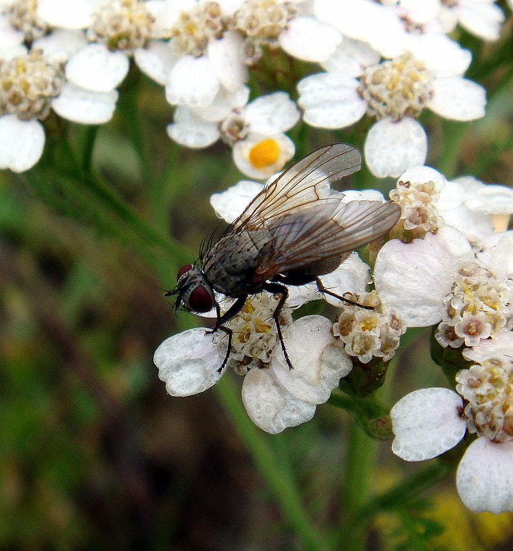
[[[279,501],[283,515],[294,533],[301,538],[307,550],[327,550],[329,548],[327,539],[312,526],[307,518],[294,480],[286,470],[281,468],[272,449],[265,442],[263,434],[248,418],[233,382],[228,376],[224,376],[215,385],[215,389],[226,411],[230,413],[239,436],[250,450],[257,468]]]

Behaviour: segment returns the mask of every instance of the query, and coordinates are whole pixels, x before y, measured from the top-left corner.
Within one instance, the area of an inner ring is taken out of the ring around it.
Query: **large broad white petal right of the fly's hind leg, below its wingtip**
[[[408,327],[427,327],[441,321],[456,264],[471,259],[470,244],[450,226],[407,244],[392,239],[378,252],[375,288],[386,306],[403,314]]]

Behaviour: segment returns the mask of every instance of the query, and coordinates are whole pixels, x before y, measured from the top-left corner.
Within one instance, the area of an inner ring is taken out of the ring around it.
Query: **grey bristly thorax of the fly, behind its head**
[[[228,296],[243,296],[262,290],[254,272],[268,256],[272,235],[265,228],[244,230],[219,239],[203,259],[203,271],[212,287]]]

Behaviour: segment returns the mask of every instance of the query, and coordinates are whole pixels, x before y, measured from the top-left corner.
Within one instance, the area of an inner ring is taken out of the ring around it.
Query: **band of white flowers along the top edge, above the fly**
[[[424,163],[424,107],[455,120],[485,113],[485,89],[463,77],[472,55],[448,33],[459,24],[492,41],[504,20],[491,0],[3,0],[0,9],[1,63],[37,50],[57,64],[65,82],[46,102],[59,116],[110,120],[133,60],[175,107],[173,140],[201,148],[221,138],[260,180],[294,155],[285,132],[301,117],[326,129],[374,118],[364,153],[378,177]],[[271,65],[260,67],[267,51]],[[323,69],[290,83],[301,111],[284,91],[248,96],[250,72],[272,72],[279,52]],[[7,114],[0,167],[25,171],[43,151],[46,112],[29,120],[2,106]]]

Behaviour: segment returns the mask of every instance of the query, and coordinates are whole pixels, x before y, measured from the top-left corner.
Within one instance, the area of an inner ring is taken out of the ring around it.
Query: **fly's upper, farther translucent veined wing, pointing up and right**
[[[266,221],[287,210],[308,208],[329,196],[331,182],[360,170],[361,166],[360,151],[348,144],[333,144],[310,153],[263,188],[233,222],[228,234],[267,226]]]

